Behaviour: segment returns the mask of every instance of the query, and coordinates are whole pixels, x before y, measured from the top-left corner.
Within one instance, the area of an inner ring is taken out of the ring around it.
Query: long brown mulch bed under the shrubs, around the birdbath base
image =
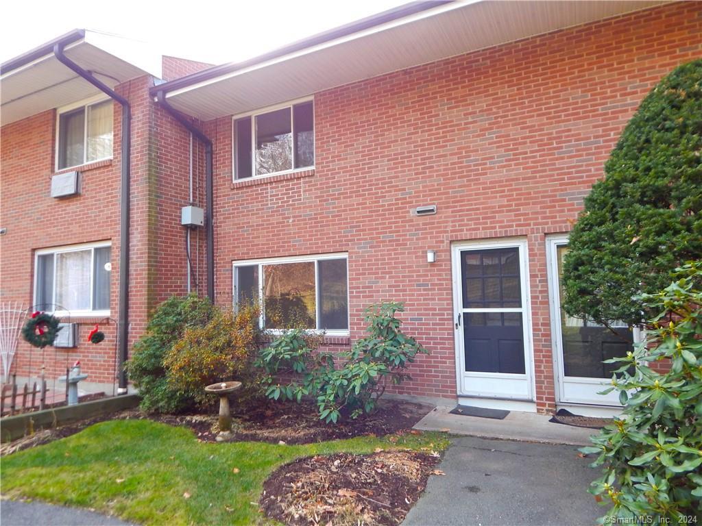
[[[317,414],[317,406],[312,403],[259,400],[250,407],[237,407],[234,402],[232,410],[232,441],[308,444],[364,435],[383,436],[411,429],[432,407],[401,400],[383,400],[375,413],[336,425],[324,424]],[[125,410],[39,431],[3,444],[0,456],[65,438],[98,422],[115,419],[152,419],[171,426],[186,426],[204,442],[214,442],[218,432],[216,410],[208,414],[146,414],[139,410]]]

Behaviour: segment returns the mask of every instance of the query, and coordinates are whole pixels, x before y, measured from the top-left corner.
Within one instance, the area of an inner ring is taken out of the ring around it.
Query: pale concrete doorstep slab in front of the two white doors
[[[548,422],[546,414],[511,411],[504,419],[465,417],[450,414],[455,406],[436,407],[417,422],[414,429],[423,431],[450,431],[456,435],[521,440],[548,444],[590,445],[590,435],[597,429],[564,426]]]

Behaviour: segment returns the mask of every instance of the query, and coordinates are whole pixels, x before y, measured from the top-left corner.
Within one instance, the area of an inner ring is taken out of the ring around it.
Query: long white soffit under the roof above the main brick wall
[[[166,93],[209,121],[664,1],[458,1]]]

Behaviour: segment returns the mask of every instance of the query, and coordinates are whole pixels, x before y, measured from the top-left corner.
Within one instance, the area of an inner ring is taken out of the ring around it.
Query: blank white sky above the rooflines
[[[163,55],[237,62],[407,0],[8,0],[0,62],[72,29],[145,41]]]

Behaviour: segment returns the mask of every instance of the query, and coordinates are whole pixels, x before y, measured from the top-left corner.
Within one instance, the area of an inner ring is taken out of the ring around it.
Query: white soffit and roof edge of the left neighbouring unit
[[[86,31],[64,53],[110,88],[145,74],[161,76],[160,55],[118,36]],[[0,76],[0,123],[5,126],[100,93],[49,53]]]

